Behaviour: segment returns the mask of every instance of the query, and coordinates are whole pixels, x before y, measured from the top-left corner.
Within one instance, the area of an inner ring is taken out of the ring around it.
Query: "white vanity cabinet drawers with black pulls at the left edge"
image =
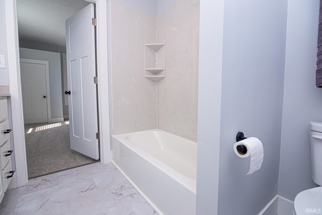
[[[12,130],[9,127],[7,97],[0,97],[0,202],[15,173],[11,159],[14,152],[10,145],[11,131]]]

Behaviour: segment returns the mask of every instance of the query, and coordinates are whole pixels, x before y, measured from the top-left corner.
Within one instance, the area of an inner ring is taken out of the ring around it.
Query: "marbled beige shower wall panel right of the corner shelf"
[[[197,141],[199,0],[178,0],[157,16],[166,43],[166,78],[158,82],[158,127]],[[158,5],[159,7],[159,5]]]

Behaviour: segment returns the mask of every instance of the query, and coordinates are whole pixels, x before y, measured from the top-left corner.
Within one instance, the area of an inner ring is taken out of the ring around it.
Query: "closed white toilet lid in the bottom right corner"
[[[301,214],[322,214],[322,187],[315,187],[298,193],[294,200],[294,212]]]

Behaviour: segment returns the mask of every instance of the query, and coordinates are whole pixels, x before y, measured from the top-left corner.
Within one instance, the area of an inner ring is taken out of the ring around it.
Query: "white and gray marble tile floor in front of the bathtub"
[[[111,163],[65,170],[9,189],[0,214],[157,215]]]

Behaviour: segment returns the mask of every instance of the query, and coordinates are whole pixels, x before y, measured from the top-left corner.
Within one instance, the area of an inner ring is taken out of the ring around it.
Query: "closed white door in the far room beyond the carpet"
[[[49,62],[20,59],[20,69],[25,124],[48,122]]]

